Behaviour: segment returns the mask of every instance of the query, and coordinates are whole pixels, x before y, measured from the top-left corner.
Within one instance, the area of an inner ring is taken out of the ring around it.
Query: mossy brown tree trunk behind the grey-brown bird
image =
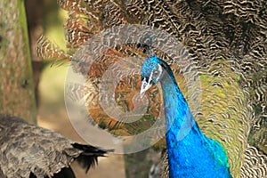
[[[36,123],[24,1],[0,1],[0,18],[0,112]]]

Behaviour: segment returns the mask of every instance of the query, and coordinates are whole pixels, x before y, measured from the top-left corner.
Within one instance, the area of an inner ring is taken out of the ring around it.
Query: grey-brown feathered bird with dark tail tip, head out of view
[[[0,145],[3,178],[75,178],[70,164],[76,161],[87,173],[98,157],[111,151],[72,142],[61,134],[5,114],[0,115]]]

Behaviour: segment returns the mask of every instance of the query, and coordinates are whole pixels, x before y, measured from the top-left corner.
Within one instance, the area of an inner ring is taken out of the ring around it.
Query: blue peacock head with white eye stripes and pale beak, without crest
[[[152,85],[157,85],[165,76],[167,64],[165,61],[158,59],[156,55],[148,58],[142,64],[141,69],[141,95],[150,89]]]

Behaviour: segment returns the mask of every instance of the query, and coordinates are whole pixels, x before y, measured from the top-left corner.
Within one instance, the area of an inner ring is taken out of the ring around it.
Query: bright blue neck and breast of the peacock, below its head
[[[219,142],[199,129],[171,69],[161,80],[166,116],[169,177],[231,177],[228,158]]]

